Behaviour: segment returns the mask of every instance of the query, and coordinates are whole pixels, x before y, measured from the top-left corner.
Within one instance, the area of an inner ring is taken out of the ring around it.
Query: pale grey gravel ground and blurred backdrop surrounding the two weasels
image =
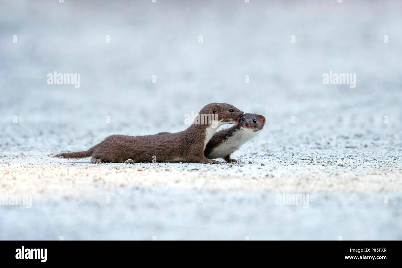
[[[402,239],[398,1],[2,9],[0,203],[32,204],[0,205],[0,239]],[[53,71],[80,73],[81,86],[47,85]],[[356,87],[324,85],[329,71],[356,73]],[[52,157],[111,134],[183,130],[210,102],[267,119],[238,164]],[[277,204],[283,193],[308,207]]]

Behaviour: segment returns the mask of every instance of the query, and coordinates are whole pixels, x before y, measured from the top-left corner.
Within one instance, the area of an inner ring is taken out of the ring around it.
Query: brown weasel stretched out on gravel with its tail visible
[[[82,152],[66,152],[56,157],[84,158],[91,163],[191,162],[217,164],[205,157],[204,149],[213,133],[223,124],[238,124],[243,112],[225,103],[211,103],[201,109],[193,124],[184,131],[169,135],[124,136],[112,135],[103,142]],[[201,119],[201,120],[200,120]]]

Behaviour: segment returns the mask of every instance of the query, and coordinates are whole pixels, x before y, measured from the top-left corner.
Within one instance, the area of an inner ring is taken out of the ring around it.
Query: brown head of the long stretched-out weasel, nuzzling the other
[[[231,104],[211,103],[202,108],[200,114],[211,114],[212,121],[236,125],[244,113]]]

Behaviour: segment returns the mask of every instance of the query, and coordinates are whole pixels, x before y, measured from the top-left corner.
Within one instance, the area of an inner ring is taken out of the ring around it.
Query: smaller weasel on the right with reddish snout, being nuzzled
[[[238,150],[248,140],[261,132],[265,125],[265,117],[259,114],[244,114],[237,126],[216,132],[204,150],[207,158],[224,158],[226,162],[236,162],[230,154]]]

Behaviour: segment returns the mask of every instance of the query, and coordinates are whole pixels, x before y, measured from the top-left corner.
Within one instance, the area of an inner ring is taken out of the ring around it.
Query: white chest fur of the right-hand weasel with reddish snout
[[[228,154],[231,154],[232,152],[238,150],[240,146],[254,138],[260,132],[261,130],[252,131],[248,128],[245,128],[243,130],[236,130],[236,132],[231,137],[219,144],[219,146],[213,148],[211,153],[209,153],[208,158],[224,158]]]

